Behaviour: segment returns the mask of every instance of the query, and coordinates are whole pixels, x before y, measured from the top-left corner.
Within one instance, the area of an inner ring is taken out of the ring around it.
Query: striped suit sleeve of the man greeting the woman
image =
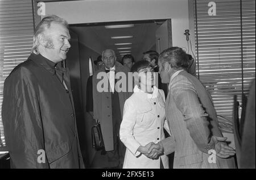
[[[171,82],[171,94],[176,107],[184,116],[187,129],[197,148],[205,153],[214,149],[212,133],[208,128],[208,114],[204,111],[192,83],[184,76],[176,76]]]

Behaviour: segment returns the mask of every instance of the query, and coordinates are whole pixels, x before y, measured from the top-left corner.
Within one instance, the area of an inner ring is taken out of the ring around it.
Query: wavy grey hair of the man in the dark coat
[[[41,20],[41,22],[38,24],[38,26],[36,26],[36,28],[35,28],[34,37],[33,37],[33,46],[32,46],[32,49],[31,49],[32,53],[35,53],[36,55],[38,55],[40,53],[39,49],[38,49],[38,47],[39,47],[39,35],[43,34],[43,32],[51,26],[52,22],[61,24],[64,27],[68,28],[67,21],[60,18],[59,16],[51,15],[51,16],[47,16],[47,17],[43,18]]]

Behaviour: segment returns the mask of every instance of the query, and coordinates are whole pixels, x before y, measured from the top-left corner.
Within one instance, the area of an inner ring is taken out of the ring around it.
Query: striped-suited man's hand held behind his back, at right
[[[236,150],[225,143],[226,139],[228,139],[227,137],[212,136],[212,139],[215,142],[216,156],[228,158],[236,154]]]

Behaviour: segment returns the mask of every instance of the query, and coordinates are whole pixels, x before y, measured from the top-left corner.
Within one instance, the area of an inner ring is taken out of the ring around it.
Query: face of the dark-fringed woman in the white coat
[[[151,67],[139,70],[139,86],[143,91],[154,86],[154,71]]]

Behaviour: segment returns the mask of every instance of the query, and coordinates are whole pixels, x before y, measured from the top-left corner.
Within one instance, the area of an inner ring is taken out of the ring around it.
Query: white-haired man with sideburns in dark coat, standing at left
[[[67,57],[68,24],[52,15],[35,29],[30,57],[10,73],[2,118],[11,168],[84,168]]]

